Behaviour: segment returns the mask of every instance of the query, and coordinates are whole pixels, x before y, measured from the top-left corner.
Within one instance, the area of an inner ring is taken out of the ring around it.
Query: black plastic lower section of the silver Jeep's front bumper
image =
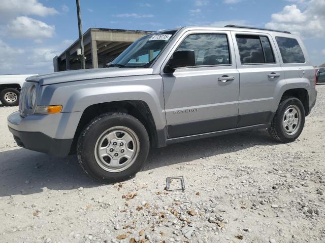
[[[41,132],[22,132],[9,127],[18,146],[57,157],[66,157],[73,139],[55,139]]]

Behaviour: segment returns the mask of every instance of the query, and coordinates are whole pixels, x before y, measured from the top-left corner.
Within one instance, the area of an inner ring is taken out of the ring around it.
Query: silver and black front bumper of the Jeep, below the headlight
[[[8,116],[9,131],[18,146],[65,157],[69,154],[82,112]]]

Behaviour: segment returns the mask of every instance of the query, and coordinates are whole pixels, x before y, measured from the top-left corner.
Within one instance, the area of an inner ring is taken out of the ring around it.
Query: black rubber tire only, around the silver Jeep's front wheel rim
[[[131,129],[139,139],[139,153],[134,163],[121,172],[104,170],[95,158],[95,144],[100,136],[110,128],[123,126]],[[135,117],[125,113],[105,113],[95,117],[84,128],[78,139],[77,155],[83,170],[101,183],[113,183],[127,180],[134,176],[147,159],[150,142],[147,130]]]

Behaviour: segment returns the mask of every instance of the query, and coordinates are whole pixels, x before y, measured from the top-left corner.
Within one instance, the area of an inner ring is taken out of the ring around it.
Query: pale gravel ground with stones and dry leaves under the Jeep
[[[0,106],[1,242],[324,242],[325,86],[293,143],[266,130],[152,149],[136,177],[99,185],[75,156],[16,146]],[[166,177],[185,191],[167,192]]]

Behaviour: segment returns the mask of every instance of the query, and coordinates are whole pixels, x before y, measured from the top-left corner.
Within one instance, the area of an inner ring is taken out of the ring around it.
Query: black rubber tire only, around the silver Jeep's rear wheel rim
[[[287,134],[284,131],[284,128],[282,126],[282,119],[284,112],[289,106],[294,105],[295,107],[298,107],[301,117],[300,117],[300,125],[297,129],[297,131],[294,134]],[[271,127],[268,129],[269,134],[272,138],[276,139],[279,142],[293,142],[295,141],[301,132],[303,131],[304,125],[305,125],[305,109],[301,101],[295,97],[284,97],[282,98],[278,109],[273,117],[273,120],[271,122]]]

